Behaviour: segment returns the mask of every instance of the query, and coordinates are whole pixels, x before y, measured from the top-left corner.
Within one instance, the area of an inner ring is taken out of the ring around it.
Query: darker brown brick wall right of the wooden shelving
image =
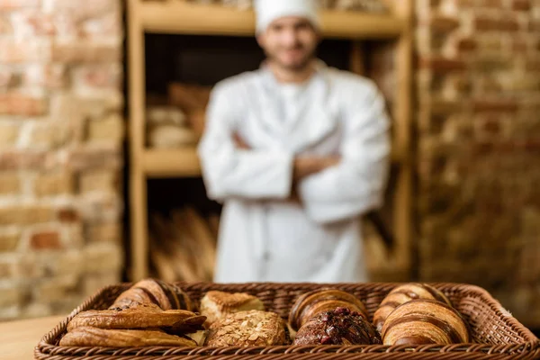
[[[540,327],[540,1],[418,0],[419,270]]]

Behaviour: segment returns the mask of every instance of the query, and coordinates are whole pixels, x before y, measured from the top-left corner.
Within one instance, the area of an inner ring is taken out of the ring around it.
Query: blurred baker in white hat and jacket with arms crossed
[[[383,96],[316,58],[315,0],[256,11],[266,62],[214,87],[199,148],[224,202],[214,281],[366,281],[360,215],[382,204],[389,167]]]

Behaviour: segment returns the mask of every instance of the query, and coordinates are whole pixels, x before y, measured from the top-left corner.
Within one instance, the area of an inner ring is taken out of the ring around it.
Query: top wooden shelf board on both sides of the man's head
[[[255,14],[221,5],[190,4],[179,0],[143,1],[139,16],[148,32],[192,35],[254,36]],[[202,20],[203,19],[203,20]],[[407,22],[392,14],[365,14],[323,11],[325,38],[395,38],[407,28]]]

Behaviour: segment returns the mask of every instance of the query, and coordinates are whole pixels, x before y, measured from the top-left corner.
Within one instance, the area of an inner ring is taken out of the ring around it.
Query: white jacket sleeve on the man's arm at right
[[[299,184],[305,210],[319,223],[347,220],[383,204],[390,170],[390,121],[375,85],[355,94],[345,106],[340,163]]]

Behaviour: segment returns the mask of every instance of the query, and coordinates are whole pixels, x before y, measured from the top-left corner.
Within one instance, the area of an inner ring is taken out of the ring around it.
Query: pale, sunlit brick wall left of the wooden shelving
[[[120,280],[120,0],[0,0],[0,320]]]

